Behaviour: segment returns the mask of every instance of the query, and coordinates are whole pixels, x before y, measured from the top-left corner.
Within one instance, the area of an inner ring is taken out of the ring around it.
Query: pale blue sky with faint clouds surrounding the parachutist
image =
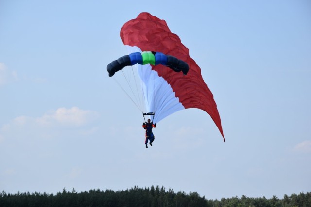
[[[145,149],[140,111],[106,72],[140,12],[190,49],[226,143],[207,113],[187,109],[157,123]],[[308,0],[1,0],[0,191],[310,192],[310,57]]]

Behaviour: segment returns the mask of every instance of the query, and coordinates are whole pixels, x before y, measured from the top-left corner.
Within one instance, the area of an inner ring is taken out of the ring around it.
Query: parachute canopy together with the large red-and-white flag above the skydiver
[[[202,78],[201,69],[190,57],[189,49],[170,31],[165,20],[147,12],[140,13],[123,25],[120,36],[129,55],[108,64],[107,71],[111,77],[125,66],[136,67],[146,106],[143,114],[153,115],[153,122],[158,123],[179,110],[201,109],[210,115],[225,142],[217,105]],[[167,62],[158,61],[151,54],[166,56]],[[136,55],[138,58],[135,59]],[[143,58],[144,55],[148,57]],[[169,62],[171,57],[173,63]]]

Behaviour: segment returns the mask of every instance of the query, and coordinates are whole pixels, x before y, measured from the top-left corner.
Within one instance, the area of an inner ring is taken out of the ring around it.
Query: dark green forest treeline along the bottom
[[[112,190],[67,191],[56,194],[0,193],[0,207],[311,207],[311,192],[283,198],[249,198],[245,195],[221,200],[207,199],[196,192],[168,191],[162,186]]]

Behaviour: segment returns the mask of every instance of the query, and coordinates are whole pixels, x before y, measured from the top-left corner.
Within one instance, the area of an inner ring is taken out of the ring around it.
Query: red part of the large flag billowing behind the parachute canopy
[[[163,65],[152,65],[152,69],[171,85],[175,96],[179,98],[185,109],[198,108],[206,111],[215,122],[225,142],[217,105],[202,78],[201,69],[189,56],[189,49],[181,43],[176,34],[170,31],[165,20],[146,12],[140,13],[136,19],[123,25],[120,36],[124,45],[137,46],[142,51],[158,51],[172,55],[189,65],[187,76],[175,73]]]

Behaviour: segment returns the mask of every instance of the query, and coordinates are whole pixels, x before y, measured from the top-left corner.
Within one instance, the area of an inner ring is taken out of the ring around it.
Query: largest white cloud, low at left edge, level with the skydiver
[[[0,143],[7,138],[50,139],[68,132],[87,136],[96,132],[97,127],[89,124],[97,117],[97,112],[78,107],[51,110],[41,117],[18,116],[0,127]]]

